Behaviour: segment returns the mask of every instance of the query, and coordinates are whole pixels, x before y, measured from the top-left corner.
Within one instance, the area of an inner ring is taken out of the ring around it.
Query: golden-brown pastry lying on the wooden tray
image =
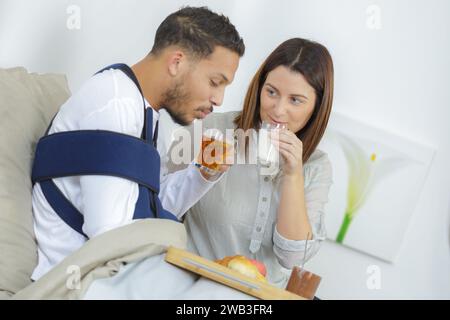
[[[266,267],[262,262],[257,260],[248,259],[241,255],[235,255],[227,256],[223,259],[216,260],[215,262],[250,278],[266,281]]]

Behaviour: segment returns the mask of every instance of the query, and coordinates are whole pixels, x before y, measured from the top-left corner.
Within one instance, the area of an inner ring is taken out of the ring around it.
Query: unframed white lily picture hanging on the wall
[[[329,239],[393,262],[433,149],[337,113],[319,149],[333,166],[325,218]]]

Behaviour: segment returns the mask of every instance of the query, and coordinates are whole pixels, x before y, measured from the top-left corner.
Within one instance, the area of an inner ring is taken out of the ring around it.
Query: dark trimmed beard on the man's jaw
[[[163,93],[162,107],[173,121],[182,126],[188,126],[191,124],[188,114],[189,110],[185,110],[184,105],[189,102],[190,98],[191,96],[185,90],[182,81],[179,81]]]

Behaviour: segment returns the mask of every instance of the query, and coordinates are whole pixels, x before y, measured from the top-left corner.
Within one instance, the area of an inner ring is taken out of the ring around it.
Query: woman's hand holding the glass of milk
[[[303,142],[295,133],[287,129],[271,133],[272,143],[280,151],[284,159],[283,173],[285,176],[303,174]]]

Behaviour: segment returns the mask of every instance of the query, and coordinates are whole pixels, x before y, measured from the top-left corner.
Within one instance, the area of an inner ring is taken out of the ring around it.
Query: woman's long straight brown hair
[[[300,131],[296,132],[297,137],[303,142],[303,163],[305,163],[322,139],[333,103],[333,60],[323,45],[300,38],[289,39],[280,44],[253,77],[245,96],[243,110],[234,123],[238,129],[244,131],[250,128],[259,129],[261,89],[269,72],[279,66],[302,74],[316,93],[311,118]]]

